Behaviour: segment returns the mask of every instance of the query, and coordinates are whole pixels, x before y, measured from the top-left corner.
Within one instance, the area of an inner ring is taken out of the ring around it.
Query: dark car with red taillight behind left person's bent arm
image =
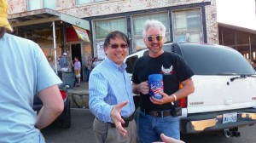
[[[64,110],[59,117],[55,119],[55,123],[58,124],[62,129],[69,129],[71,126],[71,113],[70,113],[70,101],[67,98],[67,86],[59,86],[61,96],[64,102]],[[42,100],[39,99],[38,95],[34,96],[33,110],[39,112],[43,106]]]

